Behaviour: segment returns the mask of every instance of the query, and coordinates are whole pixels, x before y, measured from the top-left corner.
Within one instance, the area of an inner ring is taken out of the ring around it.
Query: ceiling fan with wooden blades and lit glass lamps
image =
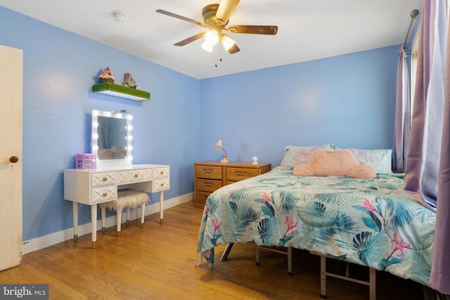
[[[169,11],[164,11],[158,9],[157,13],[162,13],[163,15],[169,15],[170,17],[184,20],[187,22],[194,23],[200,27],[206,28],[208,31],[200,32],[188,37],[183,41],[179,41],[174,44],[174,46],[184,46],[205,37],[205,42],[202,44],[202,48],[208,52],[212,52],[214,44],[221,41],[225,50],[233,54],[240,51],[240,48],[236,45],[236,42],[229,37],[228,34],[222,33],[222,31],[227,31],[231,33],[245,33],[245,34],[270,34],[275,35],[278,31],[278,26],[275,25],[228,25],[231,13],[238,6],[240,0],[221,0],[220,4],[210,4],[203,8],[203,20],[204,22],[199,22],[190,18],[186,18],[182,15],[177,15],[176,13],[170,13]]]

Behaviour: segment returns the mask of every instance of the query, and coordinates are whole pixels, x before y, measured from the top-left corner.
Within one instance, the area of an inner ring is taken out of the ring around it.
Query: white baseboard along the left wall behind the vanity
[[[164,209],[169,209],[171,207],[176,207],[176,205],[189,202],[193,200],[193,193],[186,195],[181,195],[172,199],[164,201]],[[129,219],[136,220],[141,218],[139,209],[133,209],[130,211]],[[146,206],[146,216],[150,214],[155,214],[160,211],[160,202],[153,203]],[[122,220],[125,220],[125,213],[122,213]],[[115,216],[109,216],[106,218],[105,227],[115,226]],[[101,220],[97,221],[97,230],[101,230]],[[78,236],[86,235],[91,233],[91,223],[86,223],[78,226]],[[39,249],[44,249],[53,244],[58,244],[59,242],[64,242],[66,240],[73,239],[73,228],[68,228],[65,230],[58,231],[57,233],[51,233],[49,235],[43,235],[41,237],[36,237],[32,240],[27,240],[23,242],[22,253],[27,254],[30,252],[37,251]]]

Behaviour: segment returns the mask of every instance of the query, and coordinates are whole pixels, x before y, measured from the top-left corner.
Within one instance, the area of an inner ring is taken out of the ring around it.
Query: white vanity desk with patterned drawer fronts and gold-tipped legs
[[[160,223],[163,217],[164,190],[169,190],[168,165],[133,164],[126,167],[65,169],[64,199],[73,202],[73,238],[77,241],[78,204],[91,206],[92,248],[97,241],[97,204],[117,200],[117,189],[130,188],[147,193],[160,192]],[[119,212],[121,213],[121,212]]]

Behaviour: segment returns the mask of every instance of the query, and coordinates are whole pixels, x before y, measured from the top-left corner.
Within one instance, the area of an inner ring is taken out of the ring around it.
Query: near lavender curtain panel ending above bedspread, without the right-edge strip
[[[435,209],[437,204],[444,117],[446,23],[445,1],[424,0],[405,189],[430,209]]]

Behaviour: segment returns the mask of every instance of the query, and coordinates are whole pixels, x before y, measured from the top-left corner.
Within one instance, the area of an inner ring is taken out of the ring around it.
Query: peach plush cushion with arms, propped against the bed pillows
[[[350,150],[316,150],[309,164],[297,164],[295,176],[347,176],[376,178],[375,170],[367,164],[359,164]]]

